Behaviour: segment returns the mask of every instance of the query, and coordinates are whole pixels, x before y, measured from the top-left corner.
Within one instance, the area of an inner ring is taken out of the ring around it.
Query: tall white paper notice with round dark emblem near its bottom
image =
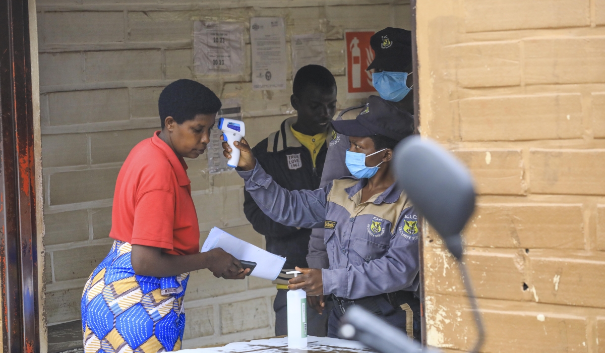
[[[281,17],[250,19],[252,90],[286,89],[286,28]]]

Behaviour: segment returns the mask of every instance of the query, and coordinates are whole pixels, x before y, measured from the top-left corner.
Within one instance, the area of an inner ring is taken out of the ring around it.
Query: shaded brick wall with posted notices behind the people
[[[159,128],[157,98],[165,85],[197,79],[221,98],[241,98],[252,144],[293,111],[291,82],[287,91],[252,91],[247,34],[246,74],[194,76],[194,19],[247,27],[253,16],[283,16],[288,41],[293,34],[325,33],[339,108],[356,103],[344,91],[344,30],[410,28],[406,0],[38,0],[37,10],[48,325],[80,317],[82,287],[111,246],[117,173],[129,150]],[[201,241],[212,226],[221,226],[263,246],[244,217],[240,177],[209,175],[205,155],[188,164]],[[269,281],[253,277],[226,281],[206,270],[193,272],[184,346],[273,335],[275,291]]]

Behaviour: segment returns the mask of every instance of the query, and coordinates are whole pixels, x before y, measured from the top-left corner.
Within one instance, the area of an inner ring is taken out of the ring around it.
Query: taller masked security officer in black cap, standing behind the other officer
[[[374,61],[367,68],[367,70],[374,69],[372,74],[374,88],[383,99],[405,111],[405,119],[413,119],[414,95],[410,93],[411,87],[413,87],[411,32],[401,28],[384,28],[371,36],[370,46],[376,53]],[[346,108],[338,114],[335,120],[355,119],[365,107],[365,104],[361,104]],[[351,175],[345,165],[348,147],[348,136],[334,130],[325,156],[319,187],[328,185],[332,180]],[[328,267],[323,229],[313,229],[311,233],[307,263],[310,268]],[[309,306],[321,308],[324,305],[321,295],[310,297]]]

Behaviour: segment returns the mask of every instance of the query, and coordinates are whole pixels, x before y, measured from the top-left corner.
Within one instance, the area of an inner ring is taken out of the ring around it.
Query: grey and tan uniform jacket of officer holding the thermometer
[[[325,295],[359,299],[418,288],[417,216],[395,185],[361,203],[367,179],[339,179],[313,191],[288,191],[260,163],[238,173],[246,191],[275,222],[325,229],[330,264],[322,269]]]

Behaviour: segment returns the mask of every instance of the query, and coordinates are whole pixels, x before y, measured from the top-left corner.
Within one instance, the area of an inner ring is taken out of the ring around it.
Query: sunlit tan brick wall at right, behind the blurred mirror
[[[417,2],[420,125],[471,169],[463,237],[485,352],[605,352],[605,1]],[[428,343],[476,332],[425,239]]]

